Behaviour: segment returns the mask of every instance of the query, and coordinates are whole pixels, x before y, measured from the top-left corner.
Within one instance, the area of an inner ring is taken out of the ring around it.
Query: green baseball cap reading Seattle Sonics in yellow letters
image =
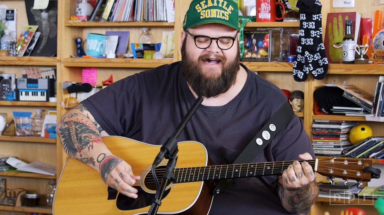
[[[239,11],[233,0],[193,0],[184,16],[183,29],[220,23],[240,31]]]

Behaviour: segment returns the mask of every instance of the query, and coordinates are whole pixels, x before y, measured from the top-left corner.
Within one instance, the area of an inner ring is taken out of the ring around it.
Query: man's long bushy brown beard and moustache
[[[182,72],[187,80],[187,83],[195,91],[197,96],[205,98],[216,97],[225,93],[236,82],[237,72],[240,69],[240,50],[237,49],[237,55],[233,60],[227,60],[222,55],[215,55],[220,60],[222,67],[221,75],[217,77],[209,77],[201,70],[201,62],[209,60],[210,54],[205,54],[199,57],[198,62],[191,60],[185,51],[186,39],[181,48],[181,66]]]

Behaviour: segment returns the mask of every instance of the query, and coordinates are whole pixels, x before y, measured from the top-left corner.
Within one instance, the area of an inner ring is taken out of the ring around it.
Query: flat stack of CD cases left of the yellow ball
[[[356,121],[314,120],[312,124],[312,147],[316,155],[343,155],[342,151],[352,146],[349,132]]]

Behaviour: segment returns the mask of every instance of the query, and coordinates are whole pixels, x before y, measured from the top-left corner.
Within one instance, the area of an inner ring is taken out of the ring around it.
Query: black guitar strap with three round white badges
[[[276,134],[278,134],[280,130],[286,126],[294,115],[295,113],[287,101],[275,114],[273,114],[271,119],[266,122],[262,129],[236,158],[233,164],[250,163],[256,155],[263,151],[266,145],[268,145]],[[219,184],[214,189],[213,195],[223,192],[230,184],[232,184],[233,181],[234,179],[220,180]]]

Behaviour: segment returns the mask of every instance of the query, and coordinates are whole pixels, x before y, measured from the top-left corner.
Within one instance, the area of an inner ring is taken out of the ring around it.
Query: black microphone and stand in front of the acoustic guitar
[[[159,206],[161,205],[161,199],[164,194],[164,191],[167,187],[169,181],[172,181],[175,178],[174,169],[177,161],[177,137],[179,137],[181,131],[184,129],[185,125],[189,122],[193,114],[197,111],[200,104],[203,102],[203,97],[199,96],[192,107],[189,109],[187,114],[184,116],[180,124],[177,126],[174,133],[166,140],[166,142],[160,148],[159,154],[156,156],[152,164],[152,176],[156,182],[156,195],[152,199],[151,208],[149,208],[148,215],[156,215]],[[161,182],[161,187],[159,187],[159,181],[156,176],[155,168],[159,163],[164,159],[168,159],[166,171],[163,176],[163,181]]]

